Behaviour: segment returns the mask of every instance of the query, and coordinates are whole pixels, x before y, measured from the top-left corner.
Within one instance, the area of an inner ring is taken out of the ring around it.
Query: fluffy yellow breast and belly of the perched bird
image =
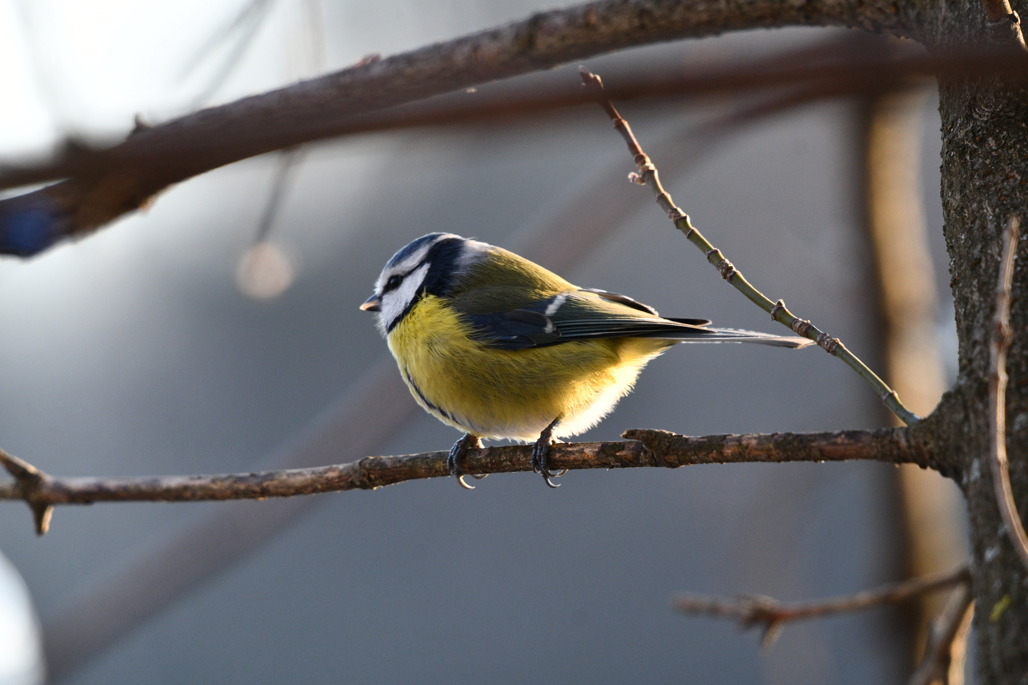
[[[436,418],[482,437],[534,441],[595,425],[627,394],[642,367],[671,344],[608,338],[523,350],[486,347],[456,312],[425,296],[389,335],[389,347],[417,403]]]

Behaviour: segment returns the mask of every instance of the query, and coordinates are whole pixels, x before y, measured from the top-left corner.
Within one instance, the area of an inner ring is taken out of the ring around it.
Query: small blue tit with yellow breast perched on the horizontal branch
[[[628,394],[642,367],[675,343],[812,341],[664,318],[624,295],[579,288],[523,257],[452,233],[396,253],[361,305],[377,324],[414,399],[463,430],[446,464],[481,439],[535,441],[533,470],[551,488],[554,437],[584,432]],[[475,478],[484,478],[475,477]]]

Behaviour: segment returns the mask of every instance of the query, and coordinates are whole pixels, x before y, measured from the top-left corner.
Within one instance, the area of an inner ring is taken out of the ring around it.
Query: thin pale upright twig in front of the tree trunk
[[[996,286],[996,312],[993,316],[992,340],[989,343],[989,446],[992,483],[996,504],[1006,526],[1006,534],[1021,562],[1028,568],[1028,535],[1018,515],[1011,486],[1011,469],[1006,459],[1006,351],[1014,333],[1011,330],[1011,290],[1014,264],[1018,254],[1021,220],[1011,217],[1003,232],[1003,252],[999,262],[999,283]]]

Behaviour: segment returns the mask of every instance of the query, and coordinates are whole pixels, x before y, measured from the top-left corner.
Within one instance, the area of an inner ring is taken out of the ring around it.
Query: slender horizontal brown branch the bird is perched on
[[[932,465],[932,456],[904,428],[819,433],[759,433],[691,437],[666,430],[627,430],[629,440],[560,443],[550,451],[554,468],[677,468],[694,464],[845,461],[865,459]],[[372,490],[418,479],[449,475],[447,452],[365,457],[346,464],[217,475],[59,478],[0,450],[0,463],[15,477],[0,483],[0,499],[25,499],[34,507],[100,501],[201,501],[292,497],[344,490]],[[531,470],[531,446],[470,450],[469,474]],[[35,510],[35,509],[34,509]]]

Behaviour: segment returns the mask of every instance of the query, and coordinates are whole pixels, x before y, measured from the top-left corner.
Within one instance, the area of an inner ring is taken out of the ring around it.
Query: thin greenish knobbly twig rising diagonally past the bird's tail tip
[[[668,218],[674,223],[674,227],[682,231],[690,242],[695,244],[706,255],[707,261],[718,269],[721,273],[721,277],[734,286],[740,293],[745,295],[750,302],[759,306],[764,311],[770,313],[772,319],[792,329],[794,333],[813,340],[825,352],[838,356],[840,359],[845,361],[847,366],[859,374],[860,378],[867,381],[868,384],[874,388],[875,392],[878,393],[878,396],[881,397],[883,403],[885,403],[885,406],[888,407],[889,410],[904,423],[910,425],[911,423],[920,420],[920,417],[904,407],[903,403],[900,402],[900,396],[896,392],[886,385],[885,381],[879,378],[875,372],[868,368],[867,365],[860,361],[855,354],[850,352],[838,338],[833,338],[829,334],[821,332],[810,321],[796,316],[785,307],[785,303],[782,300],[772,302],[768,299],[763,293],[754,288],[731,262],[725,259],[725,256],[720,250],[710,244],[710,242],[703,237],[698,230],[696,230],[689,220],[689,215],[674,204],[671,196],[664,190],[663,186],[661,186],[660,179],[657,174],[657,167],[654,166],[652,161],[650,161],[650,157],[642,152],[642,148],[639,147],[638,141],[635,140],[635,136],[632,134],[632,129],[628,125],[628,122],[621,117],[618,110],[615,109],[614,105],[612,105],[611,101],[605,97],[605,93],[603,92],[603,82],[598,76],[590,73],[584,67],[581,69],[581,73],[583,84],[595,93],[594,97],[597,104],[603,108],[607,115],[611,118],[611,121],[614,122],[614,127],[621,134],[621,137],[628,146],[629,153],[631,153],[635,161],[635,166],[638,169],[638,173],[631,174],[629,179],[639,185],[649,186],[650,189],[653,190],[654,195],[656,195],[657,204],[659,204],[660,207],[667,213]]]

